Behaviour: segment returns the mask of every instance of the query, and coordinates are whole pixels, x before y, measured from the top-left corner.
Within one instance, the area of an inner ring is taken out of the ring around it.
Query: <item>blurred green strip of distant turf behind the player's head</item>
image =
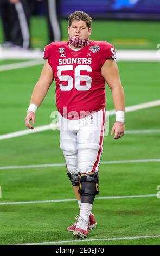
[[[34,17],[31,28],[33,47],[43,48],[47,44],[46,22]],[[36,29],[40,26],[42,29]],[[61,21],[62,38],[68,40],[66,20]],[[105,40],[116,49],[156,49],[159,43],[160,23],[153,21],[93,21],[91,40]],[[103,35],[103,38],[102,38]],[[44,42],[44,38],[46,39]]]

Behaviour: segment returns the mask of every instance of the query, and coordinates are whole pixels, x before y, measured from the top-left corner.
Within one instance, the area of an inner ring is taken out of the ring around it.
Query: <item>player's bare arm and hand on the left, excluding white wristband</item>
[[[30,104],[34,104],[39,107],[46,96],[50,85],[54,80],[54,75],[51,66],[48,64],[48,60],[43,66],[41,76],[39,81],[36,83],[33,93],[31,95]],[[34,129],[34,127],[30,124],[30,120],[32,120],[33,124],[35,124],[35,113],[33,111],[29,111],[25,118],[25,125],[29,129]]]

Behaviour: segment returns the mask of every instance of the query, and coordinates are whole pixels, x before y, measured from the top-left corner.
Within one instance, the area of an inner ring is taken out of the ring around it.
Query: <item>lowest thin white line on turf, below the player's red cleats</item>
[[[64,240],[64,241],[56,241],[56,242],[21,243],[17,245],[55,245],[59,243],[71,243],[71,242],[113,241],[113,240],[129,240],[129,239],[134,240],[134,239],[147,239],[147,238],[158,238],[158,237],[160,237],[160,235],[97,238],[97,239],[74,239],[74,240]]]

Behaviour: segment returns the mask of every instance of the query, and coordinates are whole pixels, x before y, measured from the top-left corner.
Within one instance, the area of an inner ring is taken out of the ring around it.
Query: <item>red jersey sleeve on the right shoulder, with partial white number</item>
[[[113,45],[109,44],[108,42],[103,42],[103,45],[101,47],[103,47],[100,60],[101,66],[103,66],[107,59],[116,59],[116,52]]]

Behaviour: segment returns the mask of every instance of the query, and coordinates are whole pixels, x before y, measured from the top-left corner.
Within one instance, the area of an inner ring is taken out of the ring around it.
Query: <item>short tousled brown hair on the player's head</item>
[[[83,11],[75,11],[74,13],[69,15],[68,17],[69,27],[71,26],[74,20],[84,21],[86,22],[87,27],[91,28],[92,18],[87,13],[84,13]]]

